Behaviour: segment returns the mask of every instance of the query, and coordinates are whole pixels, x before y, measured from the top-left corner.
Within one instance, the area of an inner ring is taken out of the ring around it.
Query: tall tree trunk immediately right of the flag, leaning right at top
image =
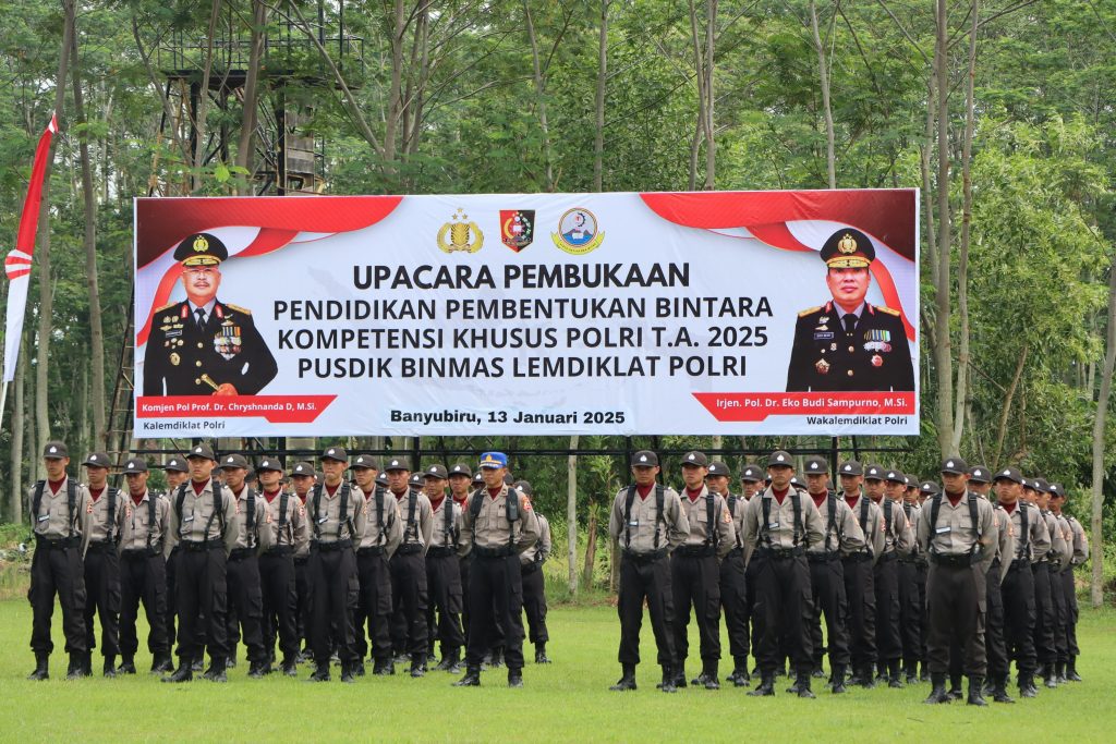
[[[66,103],[66,73],[69,70],[69,52],[74,41],[74,2],[62,0],[66,20],[62,25],[62,44],[58,52],[58,75],[55,78],[55,113],[58,125],[62,123],[62,105]],[[38,364],[35,368],[35,423],[40,443],[50,439],[50,408],[48,393],[50,381],[50,327],[54,315],[54,284],[50,280],[50,171],[55,161],[56,136],[50,141],[47,166],[42,172],[42,201],[39,203],[39,244],[35,258],[39,263],[39,336]],[[39,463],[42,472],[42,463]]]

